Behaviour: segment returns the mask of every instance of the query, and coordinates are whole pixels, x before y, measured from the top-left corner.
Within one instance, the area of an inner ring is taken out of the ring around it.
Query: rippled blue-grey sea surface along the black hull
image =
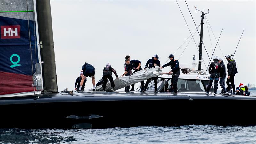
[[[256,95],[256,91],[250,91]],[[256,106],[255,106],[256,107]],[[256,144],[256,126],[186,125],[108,129],[0,129],[0,143]]]

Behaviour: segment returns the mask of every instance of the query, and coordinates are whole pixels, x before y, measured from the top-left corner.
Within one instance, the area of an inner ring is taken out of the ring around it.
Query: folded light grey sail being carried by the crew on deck
[[[115,82],[115,87],[114,87],[114,91],[124,88],[126,86],[132,85],[132,84],[136,84],[138,82],[147,80],[151,77],[156,77],[162,74],[162,70],[159,66],[155,66],[156,68],[147,68],[146,70],[140,70],[137,71],[135,73],[133,73],[130,76],[123,76],[123,77],[118,77],[114,80]],[[87,91],[92,91],[93,88],[88,89]],[[97,86],[95,88],[96,91],[102,91],[102,85]],[[110,82],[108,82],[106,84],[106,91],[110,91],[111,90],[111,84]]]

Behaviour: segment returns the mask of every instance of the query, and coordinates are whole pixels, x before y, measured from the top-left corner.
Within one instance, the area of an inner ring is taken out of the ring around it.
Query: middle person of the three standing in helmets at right
[[[219,58],[220,63],[220,86],[222,91],[220,94],[227,94],[226,86],[225,86],[225,79],[226,79],[226,66],[221,58]]]

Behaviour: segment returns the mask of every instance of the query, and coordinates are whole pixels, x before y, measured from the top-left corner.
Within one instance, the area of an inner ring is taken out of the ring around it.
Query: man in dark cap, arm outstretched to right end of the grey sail
[[[171,93],[175,93],[176,94],[176,93],[178,93],[177,83],[178,83],[178,78],[180,76],[180,64],[179,64],[178,60],[174,59],[174,55],[173,54],[170,54],[168,58],[170,58],[171,61],[168,62],[167,64],[163,65],[160,68],[164,68],[166,66],[170,66],[171,67],[172,70],[169,72],[169,74],[172,73],[171,83],[172,83],[172,86],[173,86],[173,89],[174,89],[174,91],[171,92]]]

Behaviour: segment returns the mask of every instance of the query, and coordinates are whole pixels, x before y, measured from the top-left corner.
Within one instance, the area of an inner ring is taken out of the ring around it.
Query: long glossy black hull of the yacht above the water
[[[256,97],[115,92],[38,96],[1,98],[0,128],[256,125]]]

